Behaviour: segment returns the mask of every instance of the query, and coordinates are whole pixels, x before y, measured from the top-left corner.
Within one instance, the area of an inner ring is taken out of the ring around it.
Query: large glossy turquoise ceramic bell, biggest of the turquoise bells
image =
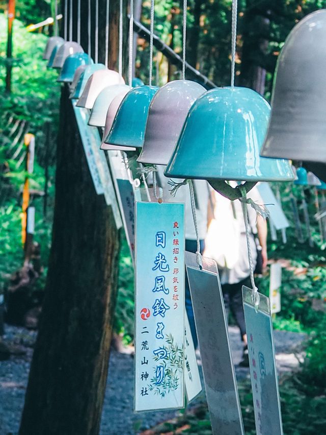
[[[249,88],[206,92],[188,113],[166,176],[206,179],[214,188],[212,180],[252,182],[247,191],[257,181],[293,180],[287,160],[259,156],[269,113],[267,101]]]

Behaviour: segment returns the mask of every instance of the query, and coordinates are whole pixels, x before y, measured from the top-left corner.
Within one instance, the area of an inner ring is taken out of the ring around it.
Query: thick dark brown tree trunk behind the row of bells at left
[[[105,0],[99,4],[101,16]],[[116,0],[111,3],[111,7],[116,5]],[[82,10],[82,29],[86,29],[83,17],[87,19]],[[82,44],[87,49],[87,32],[82,32]],[[99,61],[103,61],[104,46],[102,39]],[[115,49],[110,46],[110,51]],[[20,435],[99,433],[118,254],[119,232],[113,213],[104,196],[96,195],[64,87],[52,247]]]

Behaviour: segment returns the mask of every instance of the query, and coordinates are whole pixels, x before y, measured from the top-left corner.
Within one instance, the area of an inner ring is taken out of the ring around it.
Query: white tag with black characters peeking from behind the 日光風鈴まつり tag
[[[196,351],[186,311],[184,311],[184,386],[190,402],[202,391]]]

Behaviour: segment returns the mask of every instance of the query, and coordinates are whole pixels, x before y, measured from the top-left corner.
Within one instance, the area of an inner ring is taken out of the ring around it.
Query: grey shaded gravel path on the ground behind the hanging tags
[[[249,369],[237,367],[242,355],[237,328],[230,327],[229,334],[236,375],[240,379],[248,376]],[[304,334],[275,331],[274,336],[278,369],[289,371],[298,364],[293,348],[302,342]],[[0,361],[0,435],[16,435],[18,432],[35,338],[35,332],[12,326],[6,328],[6,339],[25,346],[27,353],[24,357]],[[205,400],[205,393],[196,400]],[[133,358],[112,351],[100,435],[134,435],[175,415],[172,411],[134,414],[132,408]]]

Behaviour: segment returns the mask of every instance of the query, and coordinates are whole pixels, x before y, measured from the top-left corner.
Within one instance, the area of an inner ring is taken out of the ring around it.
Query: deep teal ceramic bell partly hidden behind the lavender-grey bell
[[[103,136],[104,142],[120,147],[142,148],[149,105],[157,90],[157,86],[131,89],[121,102],[111,131]]]

